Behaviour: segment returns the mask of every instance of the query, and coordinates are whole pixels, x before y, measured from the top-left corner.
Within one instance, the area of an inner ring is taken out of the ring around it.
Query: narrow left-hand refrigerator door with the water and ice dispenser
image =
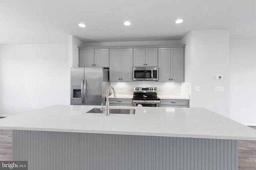
[[[70,68],[70,70],[70,104],[84,105],[84,68]]]

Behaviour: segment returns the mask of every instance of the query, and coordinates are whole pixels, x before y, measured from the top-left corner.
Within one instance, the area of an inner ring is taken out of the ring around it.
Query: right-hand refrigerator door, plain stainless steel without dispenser
[[[103,103],[103,68],[84,68],[84,80],[86,81],[86,105],[100,106]]]

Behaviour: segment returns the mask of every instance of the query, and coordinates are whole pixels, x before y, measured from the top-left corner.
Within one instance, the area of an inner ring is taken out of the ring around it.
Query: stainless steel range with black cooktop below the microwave
[[[132,106],[160,107],[156,87],[134,87]]]

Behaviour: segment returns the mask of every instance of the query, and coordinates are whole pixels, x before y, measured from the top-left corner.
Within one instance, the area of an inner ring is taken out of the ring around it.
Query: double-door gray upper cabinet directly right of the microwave
[[[158,48],[158,82],[184,82],[184,47]]]

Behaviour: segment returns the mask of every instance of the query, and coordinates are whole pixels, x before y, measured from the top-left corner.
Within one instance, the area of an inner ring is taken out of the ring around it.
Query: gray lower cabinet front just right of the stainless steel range
[[[189,100],[161,99],[161,107],[189,107]]]

